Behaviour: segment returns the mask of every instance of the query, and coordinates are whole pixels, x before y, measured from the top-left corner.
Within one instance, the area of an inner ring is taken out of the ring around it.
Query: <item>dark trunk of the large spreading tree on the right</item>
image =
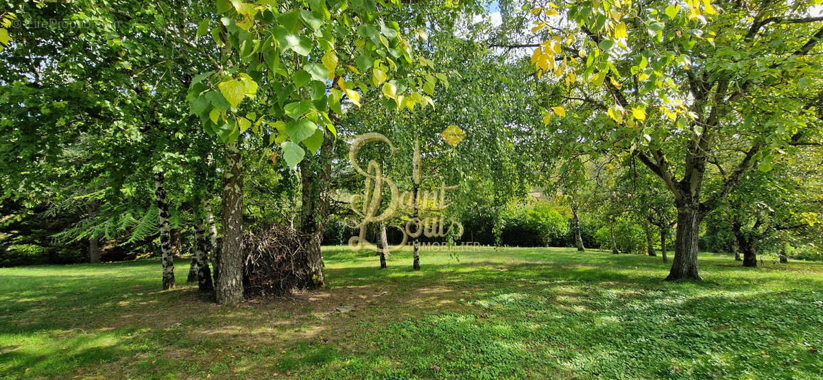
[[[666,280],[703,280],[697,266],[698,238],[702,213],[697,206],[677,207],[674,261]]]

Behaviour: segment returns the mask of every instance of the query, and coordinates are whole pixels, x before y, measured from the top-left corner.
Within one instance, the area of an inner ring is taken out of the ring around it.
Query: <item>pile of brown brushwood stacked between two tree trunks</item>
[[[287,225],[249,231],[243,239],[243,250],[246,298],[290,294],[311,285],[300,231]]]

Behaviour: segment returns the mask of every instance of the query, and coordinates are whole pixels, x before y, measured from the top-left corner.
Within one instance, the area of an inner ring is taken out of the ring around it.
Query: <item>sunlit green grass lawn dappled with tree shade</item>
[[[160,263],[0,268],[0,378],[821,378],[823,264],[324,248],[327,290],[219,307]],[[336,312],[342,306],[356,309]]]

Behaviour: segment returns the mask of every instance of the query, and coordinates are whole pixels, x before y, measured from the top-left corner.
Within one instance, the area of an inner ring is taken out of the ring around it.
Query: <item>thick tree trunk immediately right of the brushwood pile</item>
[[[329,176],[331,172],[334,139],[326,137],[320,146],[320,155],[306,155],[300,161],[300,179],[303,184],[300,207],[300,231],[305,234],[304,246],[309,258],[309,275],[315,288],[326,285],[323,273],[323,232],[326,230],[330,197]]]

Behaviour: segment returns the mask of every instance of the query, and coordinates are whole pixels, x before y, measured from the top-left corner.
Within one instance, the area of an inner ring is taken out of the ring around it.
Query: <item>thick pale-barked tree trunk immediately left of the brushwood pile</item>
[[[223,247],[217,278],[217,304],[243,300],[243,155],[235,141],[226,151],[223,171]]]

